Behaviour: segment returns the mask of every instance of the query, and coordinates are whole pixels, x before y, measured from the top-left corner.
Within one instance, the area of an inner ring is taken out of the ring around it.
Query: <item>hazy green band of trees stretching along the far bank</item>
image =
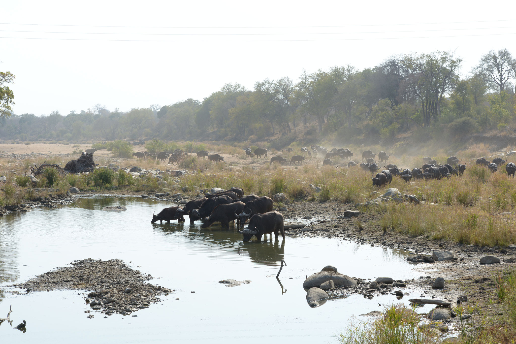
[[[516,129],[516,59],[506,49],[481,56],[467,75],[453,52],[394,56],[374,68],[351,65],[265,79],[248,90],[224,85],[202,102],[62,116],[22,114],[2,118],[0,139],[96,140],[160,138],[260,140],[311,132],[392,138],[410,128],[446,126],[452,134]]]

